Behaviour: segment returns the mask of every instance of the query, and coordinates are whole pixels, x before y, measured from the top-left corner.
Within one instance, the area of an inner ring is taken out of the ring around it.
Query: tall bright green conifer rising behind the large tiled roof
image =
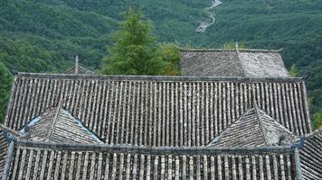
[[[140,11],[131,8],[125,17],[119,30],[112,34],[114,44],[109,47],[109,57],[103,58],[101,72],[111,75],[177,74],[173,64],[179,58],[173,53],[175,47],[156,44],[152,26]]]

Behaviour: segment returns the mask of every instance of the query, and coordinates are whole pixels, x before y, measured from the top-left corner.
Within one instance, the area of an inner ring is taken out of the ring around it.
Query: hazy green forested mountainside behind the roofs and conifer
[[[287,67],[294,64],[298,76],[306,76],[312,114],[317,112],[322,107],[322,0],[222,3],[211,10],[213,25],[198,33],[198,23],[212,22],[204,12],[211,0],[1,0],[0,75],[62,72],[76,54],[83,66],[99,69],[109,34],[117,30],[122,12],[134,7],[151,20],[160,42],[220,48],[239,41],[247,48],[283,48]],[[8,91],[0,91],[1,120]]]

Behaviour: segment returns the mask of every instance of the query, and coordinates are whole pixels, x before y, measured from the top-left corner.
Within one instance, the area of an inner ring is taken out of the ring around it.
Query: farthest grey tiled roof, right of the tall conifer
[[[185,76],[288,77],[279,50],[180,49]]]

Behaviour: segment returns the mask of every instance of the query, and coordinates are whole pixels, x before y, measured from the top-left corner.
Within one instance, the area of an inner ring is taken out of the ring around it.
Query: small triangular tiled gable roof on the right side
[[[283,137],[283,139],[281,139]],[[232,123],[227,130],[215,138],[209,146],[248,147],[274,146],[291,143],[296,137],[266,112],[255,108],[246,112],[242,118]],[[283,140],[283,142],[279,142]]]

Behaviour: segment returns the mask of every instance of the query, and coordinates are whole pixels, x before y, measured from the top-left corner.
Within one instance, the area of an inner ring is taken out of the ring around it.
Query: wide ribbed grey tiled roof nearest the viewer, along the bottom
[[[18,141],[10,179],[295,179],[294,151]],[[26,159],[21,161],[21,159]]]

